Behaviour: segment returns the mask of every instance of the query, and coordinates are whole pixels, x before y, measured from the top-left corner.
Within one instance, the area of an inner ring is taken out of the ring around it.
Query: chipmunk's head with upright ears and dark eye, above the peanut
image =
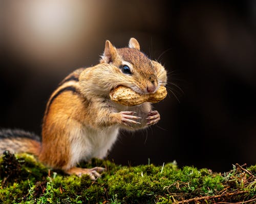
[[[123,85],[146,94],[166,84],[164,67],[140,52],[139,42],[135,38],[131,38],[129,47],[124,48],[116,48],[106,40],[100,62],[112,65],[110,68],[115,75],[115,86]]]

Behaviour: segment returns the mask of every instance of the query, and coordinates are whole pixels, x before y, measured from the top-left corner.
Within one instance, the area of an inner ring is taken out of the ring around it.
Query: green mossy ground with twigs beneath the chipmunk
[[[93,160],[106,169],[89,176],[50,170],[28,154],[0,159],[0,203],[256,203],[256,165],[226,173],[175,163],[136,167]]]

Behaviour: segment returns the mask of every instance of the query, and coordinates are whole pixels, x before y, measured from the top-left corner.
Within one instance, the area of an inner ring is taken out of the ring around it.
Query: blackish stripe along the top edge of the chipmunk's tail
[[[41,138],[38,135],[36,135],[34,133],[23,131],[23,130],[19,130],[19,129],[14,129],[14,130],[2,129],[2,130],[0,130],[0,139],[12,139],[12,138],[27,138],[27,139],[32,139],[32,140],[35,140],[38,142],[41,141]]]

